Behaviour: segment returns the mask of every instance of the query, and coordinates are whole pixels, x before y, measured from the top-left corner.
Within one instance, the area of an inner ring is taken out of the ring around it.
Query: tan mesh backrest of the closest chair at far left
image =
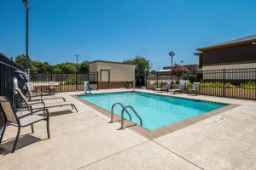
[[[12,107],[12,105],[9,102],[9,99],[7,99],[4,96],[0,96],[0,104],[1,109],[3,111],[3,114],[8,122],[13,122],[18,124],[18,118],[15,115],[15,111]]]

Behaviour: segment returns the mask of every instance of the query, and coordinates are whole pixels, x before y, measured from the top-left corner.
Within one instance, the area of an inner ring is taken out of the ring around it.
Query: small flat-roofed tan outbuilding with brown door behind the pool
[[[135,82],[135,65],[113,61],[90,62],[90,72],[98,72],[98,88],[126,88]]]

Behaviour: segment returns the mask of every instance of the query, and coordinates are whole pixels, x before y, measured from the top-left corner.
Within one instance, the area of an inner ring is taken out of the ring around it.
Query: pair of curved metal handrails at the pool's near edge
[[[139,116],[137,114],[137,111],[135,111],[135,109],[131,105],[124,106],[121,103],[115,103],[115,104],[112,105],[112,108],[111,108],[111,121],[110,121],[111,123],[113,122],[113,109],[114,109],[114,107],[116,105],[120,105],[123,108],[122,112],[121,112],[121,127],[119,129],[124,129],[124,121],[125,121],[124,113],[126,113],[129,116],[129,119],[130,119],[130,122],[131,122],[131,114],[130,114],[129,111],[127,111],[128,108],[130,108],[131,111],[135,114],[135,116],[137,116],[137,118],[140,121],[140,125],[143,126],[143,119],[141,118],[141,116]]]

